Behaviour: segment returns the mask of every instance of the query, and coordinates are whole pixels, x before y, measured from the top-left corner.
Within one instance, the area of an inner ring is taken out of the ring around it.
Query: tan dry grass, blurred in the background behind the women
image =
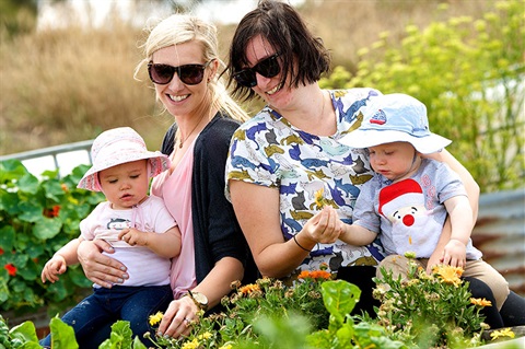
[[[441,1],[442,2],[442,1]],[[313,32],[332,50],[334,63],[353,71],[357,51],[383,31],[400,37],[407,24],[443,20],[438,0],[306,0],[300,9]],[[480,16],[485,0],[450,0],[446,15]],[[235,30],[219,28],[222,56]],[[156,149],[173,118],[160,115],[140,60],[140,28],[108,22],[105,28],[68,27],[2,36],[0,46],[0,154],[94,138],[131,126]],[[255,110],[258,104],[246,106]]]

